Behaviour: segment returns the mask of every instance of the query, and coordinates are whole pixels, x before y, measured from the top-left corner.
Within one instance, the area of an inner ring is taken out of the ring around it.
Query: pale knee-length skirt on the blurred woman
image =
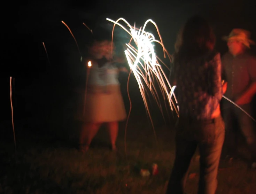
[[[119,85],[88,86],[82,106],[79,107],[79,120],[92,123],[123,121],[126,111]],[[85,104],[85,106],[84,106]]]

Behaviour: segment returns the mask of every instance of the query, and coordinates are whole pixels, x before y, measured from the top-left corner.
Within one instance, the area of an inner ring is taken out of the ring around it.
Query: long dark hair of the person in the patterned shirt
[[[201,16],[193,16],[178,34],[174,63],[186,64],[195,57],[212,52],[214,46],[215,34],[208,21]]]

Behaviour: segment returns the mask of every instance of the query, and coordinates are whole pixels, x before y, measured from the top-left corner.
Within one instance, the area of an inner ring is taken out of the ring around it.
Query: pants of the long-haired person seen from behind
[[[222,117],[206,121],[179,119],[174,160],[166,194],[183,194],[188,168],[197,146],[200,152],[199,194],[215,194],[225,137]]]

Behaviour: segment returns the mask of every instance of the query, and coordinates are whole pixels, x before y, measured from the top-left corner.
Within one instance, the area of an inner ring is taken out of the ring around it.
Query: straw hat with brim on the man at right
[[[250,45],[254,45],[255,42],[250,40],[251,33],[243,29],[233,29],[228,36],[222,37],[223,40],[236,40],[242,42],[245,46],[250,48]]]

